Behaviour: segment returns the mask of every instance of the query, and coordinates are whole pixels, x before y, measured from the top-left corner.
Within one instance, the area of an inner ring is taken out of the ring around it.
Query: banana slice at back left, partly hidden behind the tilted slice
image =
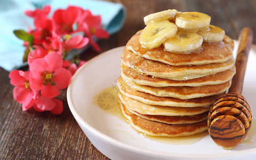
[[[144,22],[145,22],[145,25],[148,25],[150,21],[154,21],[154,20],[164,20],[164,19],[171,20],[171,19],[174,19],[176,13],[177,13],[177,10],[166,10],[166,11],[152,13],[144,17]]]

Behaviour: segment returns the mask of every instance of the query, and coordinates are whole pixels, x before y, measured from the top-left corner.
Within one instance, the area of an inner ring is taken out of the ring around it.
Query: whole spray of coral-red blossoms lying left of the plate
[[[28,37],[23,43],[27,49],[24,58],[27,57],[29,71],[13,70],[9,77],[14,85],[13,97],[22,103],[22,110],[34,107],[36,111],[48,110],[60,114],[63,110],[62,102],[54,97],[60,94],[60,89],[68,86],[71,76],[85,63],[76,54],[70,55],[71,62],[65,59],[71,50],[81,49],[89,42],[99,51],[94,40],[108,38],[109,35],[101,28],[100,15],[94,16],[89,10],[68,6],[65,10],[55,11],[49,19],[47,15],[50,11],[49,5],[25,11],[26,15],[34,19],[35,26],[35,29],[28,26],[28,35],[25,35]],[[77,34],[70,36],[78,31],[86,37]],[[27,54],[27,51],[30,52]]]

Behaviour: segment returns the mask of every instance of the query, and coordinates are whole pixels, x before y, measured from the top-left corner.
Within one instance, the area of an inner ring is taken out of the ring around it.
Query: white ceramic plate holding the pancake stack
[[[93,105],[93,97],[116,84],[121,74],[121,54],[124,46],[100,54],[81,67],[73,76],[67,90],[71,113],[87,138],[101,153],[111,159],[253,159],[256,138],[252,145],[238,145],[234,150],[223,150],[206,135],[191,145],[170,145],[142,137],[122,119]],[[234,53],[237,50],[237,41]],[[256,46],[253,45],[247,62],[243,95],[256,116]],[[255,122],[255,121],[254,121]],[[252,124],[252,129],[255,125]],[[253,132],[253,130],[250,130]]]

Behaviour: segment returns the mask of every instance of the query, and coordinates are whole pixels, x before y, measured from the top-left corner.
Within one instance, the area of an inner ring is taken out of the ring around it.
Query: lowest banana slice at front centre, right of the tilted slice
[[[172,53],[186,54],[196,51],[203,43],[202,36],[190,31],[177,31],[177,34],[163,43],[164,50]]]

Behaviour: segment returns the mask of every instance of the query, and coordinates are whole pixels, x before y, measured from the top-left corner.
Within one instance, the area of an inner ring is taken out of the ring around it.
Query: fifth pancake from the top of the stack
[[[122,79],[121,79],[122,80]],[[138,100],[148,105],[158,106],[171,106],[171,107],[209,107],[211,106],[222,94],[213,95],[209,97],[193,98],[193,99],[177,99],[172,97],[157,97],[153,94],[140,92],[131,89],[124,81],[117,81],[119,91],[126,97]]]

